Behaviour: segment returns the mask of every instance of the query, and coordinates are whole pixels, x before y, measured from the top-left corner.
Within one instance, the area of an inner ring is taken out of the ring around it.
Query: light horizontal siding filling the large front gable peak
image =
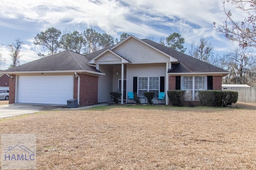
[[[132,64],[170,62],[170,57],[163,55],[134,38],[131,38],[113,51],[130,61]]]

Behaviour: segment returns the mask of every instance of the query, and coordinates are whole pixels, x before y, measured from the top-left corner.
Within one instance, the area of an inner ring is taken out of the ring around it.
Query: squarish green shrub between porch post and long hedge
[[[167,91],[169,101],[173,106],[183,106],[185,91],[183,90],[169,90]]]

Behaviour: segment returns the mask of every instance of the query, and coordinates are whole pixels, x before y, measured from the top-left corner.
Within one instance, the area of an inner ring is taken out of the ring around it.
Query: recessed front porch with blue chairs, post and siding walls
[[[148,69],[152,72],[149,72]],[[148,103],[144,92],[155,92],[154,104],[158,104],[160,92],[165,93],[166,102],[166,63],[157,64],[102,64],[98,69],[105,73],[99,76],[98,102],[110,102],[111,91],[119,91],[122,94],[120,104],[135,103],[134,99],[128,99],[128,93],[137,93],[142,104]],[[161,101],[159,101],[159,104]]]

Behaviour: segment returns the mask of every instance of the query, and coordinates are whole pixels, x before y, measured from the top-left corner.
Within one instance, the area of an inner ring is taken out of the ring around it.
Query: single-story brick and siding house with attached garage
[[[197,101],[198,91],[222,89],[229,72],[151,40],[129,36],[122,42],[88,55],[64,51],[8,70],[9,103],[80,105],[111,101],[110,91],[144,97],[145,91],[186,90],[186,100]],[[166,97],[168,104],[168,97]]]

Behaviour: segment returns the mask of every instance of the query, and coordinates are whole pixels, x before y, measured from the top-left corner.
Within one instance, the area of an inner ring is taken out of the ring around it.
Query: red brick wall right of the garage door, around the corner
[[[98,77],[78,74],[80,76],[80,106],[98,103]],[[74,78],[74,99],[77,99],[78,79]]]

